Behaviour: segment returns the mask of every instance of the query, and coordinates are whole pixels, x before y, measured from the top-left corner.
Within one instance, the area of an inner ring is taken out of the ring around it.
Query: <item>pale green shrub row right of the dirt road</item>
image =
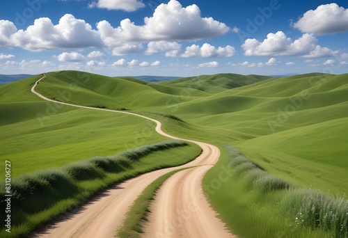
[[[237,177],[248,189],[258,191],[260,197],[271,191],[285,191],[279,205],[280,214],[290,218],[294,229],[321,229],[330,237],[348,238],[348,200],[345,196],[333,197],[315,189],[290,186],[285,180],[267,173],[260,166],[247,159],[230,145],[228,151],[230,164]]]

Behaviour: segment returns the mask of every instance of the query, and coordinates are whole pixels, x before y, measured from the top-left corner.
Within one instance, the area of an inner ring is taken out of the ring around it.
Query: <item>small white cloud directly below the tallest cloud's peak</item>
[[[166,56],[177,56],[181,49],[181,45],[177,42],[168,41],[152,41],[148,43],[148,49],[146,49],[145,54],[155,54],[158,52],[166,52]]]

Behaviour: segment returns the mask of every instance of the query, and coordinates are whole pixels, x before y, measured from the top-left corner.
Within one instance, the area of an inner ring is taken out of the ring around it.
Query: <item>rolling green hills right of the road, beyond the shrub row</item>
[[[203,134],[211,134],[203,140],[232,143],[261,164],[264,157],[274,158],[262,165],[286,178],[290,174],[301,177],[306,172],[296,167],[290,173],[283,171],[274,154],[296,161],[294,164],[303,162],[320,168],[315,173],[326,174],[322,166],[332,166],[340,173],[329,173],[329,181],[339,181],[331,192],[345,192],[348,180],[340,174],[348,172],[344,146],[348,134],[347,77],[317,73],[281,78],[216,74],[153,84],[64,71],[47,74],[38,90],[48,97],[87,106],[173,114],[191,123],[191,128],[200,127]],[[167,128],[171,130],[171,126]],[[175,128],[172,134],[187,133]],[[200,133],[196,130],[187,134]],[[315,173],[310,174],[317,176]],[[316,182],[290,180],[329,190],[324,176]]]

